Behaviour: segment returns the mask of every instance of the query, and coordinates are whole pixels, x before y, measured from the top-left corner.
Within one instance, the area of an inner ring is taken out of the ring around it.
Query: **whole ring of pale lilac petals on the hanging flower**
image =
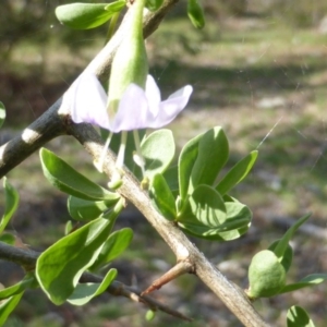
[[[153,76],[147,75],[145,90],[131,84],[124,92],[112,121],[107,111],[108,96],[94,74],[83,73],[73,84],[72,120],[99,125],[112,133],[158,129],[169,124],[187,105],[192,86],[186,85],[161,101]]]

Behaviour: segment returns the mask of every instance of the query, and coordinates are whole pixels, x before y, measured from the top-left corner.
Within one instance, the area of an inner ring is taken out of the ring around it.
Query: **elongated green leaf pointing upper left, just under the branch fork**
[[[41,148],[39,154],[45,177],[58,190],[84,199],[116,201],[120,197],[92,182],[48,149]]]

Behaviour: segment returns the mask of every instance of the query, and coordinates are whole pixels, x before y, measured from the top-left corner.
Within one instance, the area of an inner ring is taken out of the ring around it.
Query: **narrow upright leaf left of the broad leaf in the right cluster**
[[[182,202],[187,197],[191,173],[198,154],[198,143],[203,135],[199,134],[190,140],[182,148],[179,157],[179,186]]]

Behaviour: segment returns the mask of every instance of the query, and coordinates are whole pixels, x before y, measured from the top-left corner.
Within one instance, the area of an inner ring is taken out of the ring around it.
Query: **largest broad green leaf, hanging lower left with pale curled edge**
[[[36,277],[55,304],[63,303],[73,293],[82,274],[95,263],[122,208],[119,202],[108,219],[90,221],[38,257]]]

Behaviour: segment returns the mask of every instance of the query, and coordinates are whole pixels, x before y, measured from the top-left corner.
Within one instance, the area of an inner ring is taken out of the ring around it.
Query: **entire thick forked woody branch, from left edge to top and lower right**
[[[144,19],[144,35],[147,37],[159,25],[166,13],[178,0],[166,0],[156,13],[147,13]],[[99,78],[108,76],[112,57],[123,35],[129,20],[125,15],[120,28],[111,40],[89,63],[86,70],[95,73]],[[25,129],[22,134],[0,147],[0,178],[26,159],[50,140],[70,134],[74,136],[92,155],[99,158],[102,152],[102,141],[98,133],[87,124],[73,124],[70,120],[71,95],[68,90],[62,98],[52,105],[38,120]],[[108,152],[105,173],[110,178],[114,169],[114,155]],[[244,324],[244,326],[268,326],[253,308],[243,291],[232,284],[225,276],[201,253],[185,234],[166,220],[152,206],[147,193],[140,187],[138,181],[129,171],[123,178],[123,185],[118,191],[133,203],[159,232],[166,243],[174,252],[178,261],[187,261],[193,265],[192,271],[220,298],[229,310]],[[0,253],[0,257],[3,257]],[[16,261],[17,263],[21,259]],[[23,263],[22,263],[23,264]],[[23,264],[24,265],[24,264]]]

